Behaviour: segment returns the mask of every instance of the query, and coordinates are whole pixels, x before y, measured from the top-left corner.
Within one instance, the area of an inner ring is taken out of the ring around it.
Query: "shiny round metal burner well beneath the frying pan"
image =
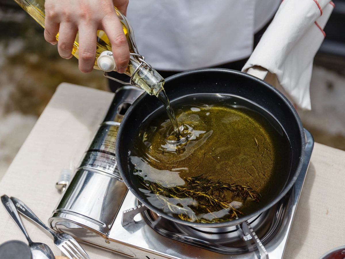
[[[249,220],[248,226],[255,231],[256,236],[261,240],[259,242],[265,245],[275,236],[291,199],[292,196],[289,192],[285,199],[278,202],[270,210]],[[240,225],[227,228],[196,228],[159,217],[150,210],[145,210],[141,214],[145,222],[156,232],[180,242],[233,255],[257,249],[256,242],[248,234],[248,226],[245,222],[242,224],[247,227],[245,228],[246,231]]]

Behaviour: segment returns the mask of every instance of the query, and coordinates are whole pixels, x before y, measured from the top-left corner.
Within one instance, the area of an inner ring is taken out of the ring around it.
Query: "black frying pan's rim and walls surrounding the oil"
[[[302,167],[305,153],[305,137],[302,123],[292,104],[286,97],[273,86],[254,76],[235,70],[206,68],[179,73],[168,77],[164,85],[167,96],[173,103],[174,99],[194,93],[220,93],[242,96],[259,105],[275,117],[285,130],[291,145],[290,171],[285,177],[287,179],[280,185],[276,195],[270,198],[254,212],[241,216],[232,221],[219,223],[194,223],[181,220],[168,215],[152,206],[144,193],[139,191],[142,188],[139,177],[133,174],[134,167],[129,162],[129,151],[131,150],[135,136],[138,135],[138,127],[144,119],[161,106],[158,98],[148,94],[142,94],[128,109],[120,124],[117,140],[116,154],[119,171],[128,189],[145,204],[150,210],[162,217],[172,221],[197,227],[228,227],[235,226],[240,222],[248,220],[259,213],[268,210],[277,203],[292,188]]]

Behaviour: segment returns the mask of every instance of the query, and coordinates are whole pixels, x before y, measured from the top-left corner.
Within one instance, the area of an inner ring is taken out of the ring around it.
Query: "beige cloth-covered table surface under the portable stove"
[[[76,167],[114,94],[61,84],[0,182],[0,195],[15,196],[48,222],[60,194],[55,189],[61,169]],[[315,143],[284,258],[318,258],[345,245],[345,152]],[[0,243],[26,242],[0,206]],[[61,255],[50,236],[23,219],[34,242],[47,243]],[[82,245],[91,258],[123,258]],[[274,258],[273,258],[274,259]]]

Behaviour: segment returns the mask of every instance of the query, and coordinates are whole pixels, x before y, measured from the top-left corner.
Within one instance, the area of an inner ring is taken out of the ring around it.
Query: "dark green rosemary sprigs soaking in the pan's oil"
[[[175,217],[187,221],[211,223],[233,220],[243,214],[230,205],[234,198],[242,202],[247,199],[259,202],[260,194],[250,186],[228,184],[203,175],[184,179],[185,184],[182,186],[169,186],[167,182],[150,182],[141,177],[140,179],[146,189],[156,194],[162,208],[173,213]],[[226,198],[229,197],[226,191],[232,193],[230,200]],[[183,199],[186,198],[195,202],[185,203]],[[226,210],[226,215],[217,217],[215,213],[221,210]]]

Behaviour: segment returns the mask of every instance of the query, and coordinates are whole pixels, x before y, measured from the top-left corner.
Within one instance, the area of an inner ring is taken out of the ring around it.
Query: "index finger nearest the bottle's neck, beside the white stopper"
[[[116,71],[124,73],[129,62],[129,47],[122,24],[114,13],[102,19],[103,30],[111,44],[112,54],[116,64]]]

